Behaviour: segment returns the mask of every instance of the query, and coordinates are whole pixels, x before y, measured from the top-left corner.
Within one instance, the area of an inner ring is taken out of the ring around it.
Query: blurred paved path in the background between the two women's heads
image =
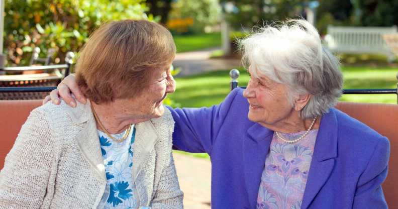
[[[232,69],[240,66],[240,59],[210,59],[215,50],[220,50],[220,48],[177,53],[173,66],[174,68],[181,67],[182,70],[178,76],[194,75],[211,70]]]

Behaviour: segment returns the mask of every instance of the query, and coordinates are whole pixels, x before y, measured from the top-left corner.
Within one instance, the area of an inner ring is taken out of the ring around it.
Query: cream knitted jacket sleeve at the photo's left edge
[[[46,115],[31,112],[0,172],[0,208],[39,208],[50,176],[53,143]]]

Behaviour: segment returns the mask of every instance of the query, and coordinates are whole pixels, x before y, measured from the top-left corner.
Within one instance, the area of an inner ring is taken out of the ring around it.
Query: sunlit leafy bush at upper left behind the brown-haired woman
[[[57,50],[78,52],[90,33],[103,22],[147,17],[145,0],[6,0],[5,54],[8,65],[27,65],[36,46],[41,56]]]

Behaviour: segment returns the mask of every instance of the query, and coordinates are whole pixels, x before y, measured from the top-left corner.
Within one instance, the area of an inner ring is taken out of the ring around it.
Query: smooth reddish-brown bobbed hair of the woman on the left
[[[163,26],[145,20],[107,23],[93,32],[76,63],[76,81],[95,103],[131,98],[165,70],[175,44]]]

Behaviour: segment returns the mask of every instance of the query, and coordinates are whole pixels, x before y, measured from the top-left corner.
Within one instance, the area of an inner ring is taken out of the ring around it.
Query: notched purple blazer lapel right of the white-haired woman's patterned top
[[[308,208],[328,180],[336,157],[337,119],[332,109],[321,120],[301,208]]]

